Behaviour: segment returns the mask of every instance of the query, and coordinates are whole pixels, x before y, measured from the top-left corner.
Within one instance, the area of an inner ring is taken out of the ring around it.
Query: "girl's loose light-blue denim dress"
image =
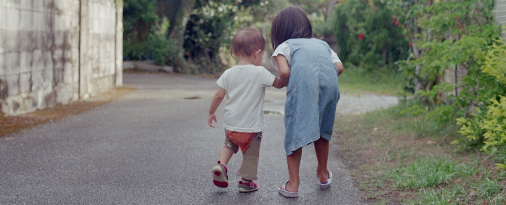
[[[285,151],[291,155],[318,140],[330,140],[338,103],[338,70],[330,47],[316,38],[296,38],[290,45],[290,78],[286,86]]]

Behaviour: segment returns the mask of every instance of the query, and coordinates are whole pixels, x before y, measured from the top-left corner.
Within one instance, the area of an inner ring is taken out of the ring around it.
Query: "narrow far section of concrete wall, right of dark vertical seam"
[[[121,85],[116,73],[121,73],[122,69],[116,69],[116,2],[81,0],[81,6],[81,19],[88,20],[81,21],[81,26],[88,29],[81,29],[81,38],[86,39],[81,41],[80,96],[88,98],[90,94]]]

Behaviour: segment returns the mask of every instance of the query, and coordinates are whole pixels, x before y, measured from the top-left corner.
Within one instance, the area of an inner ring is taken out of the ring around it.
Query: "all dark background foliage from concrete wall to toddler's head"
[[[126,0],[123,56],[129,60],[153,59],[159,65],[184,67],[176,69],[177,72],[220,72],[223,65],[219,53],[226,50],[224,47],[237,28],[252,22],[250,8],[266,6],[269,2],[192,0],[160,4],[156,0]],[[171,6],[177,8],[168,12],[166,7]],[[174,25],[168,24],[165,18],[172,18]]]

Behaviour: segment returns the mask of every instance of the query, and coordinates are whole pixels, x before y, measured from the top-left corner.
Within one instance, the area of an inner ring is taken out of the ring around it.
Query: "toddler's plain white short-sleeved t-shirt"
[[[266,130],[265,88],[271,87],[275,78],[263,66],[236,65],[225,70],[216,82],[227,96],[223,127],[228,131],[242,133]]]

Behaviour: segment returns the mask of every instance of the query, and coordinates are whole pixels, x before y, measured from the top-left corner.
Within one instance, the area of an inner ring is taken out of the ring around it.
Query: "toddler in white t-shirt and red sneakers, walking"
[[[213,182],[216,186],[228,186],[227,163],[232,154],[242,151],[242,165],[237,176],[241,177],[238,190],[250,192],[258,189],[253,180],[258,180],[257,168],[260,155],[264,121],[264,96],[266,87],[283,88],[281,80],[260,66],[265,52],[265,39],[259,30],[251,27],[237,32],[232,39],[231,53],[238,63],[225,70],[218,79],[220,87],[213,97],[207,118],[210,127],[216,120],[215,111],[227,96],[225,105],[225,146],[220,159],[213,168]]]

